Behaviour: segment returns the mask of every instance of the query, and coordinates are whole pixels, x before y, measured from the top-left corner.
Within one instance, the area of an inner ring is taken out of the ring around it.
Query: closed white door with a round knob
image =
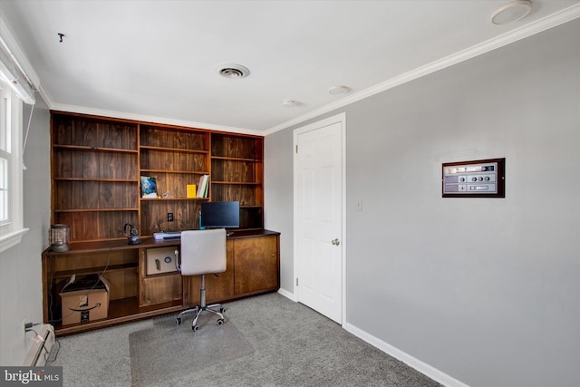
[[[343,322],[344,114],[295,131],[295,291]]]

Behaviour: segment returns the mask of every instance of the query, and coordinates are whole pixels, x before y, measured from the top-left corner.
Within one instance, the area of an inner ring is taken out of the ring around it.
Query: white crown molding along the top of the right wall
[[[512,44],[519,40],[525,39],[528,36],[532,36],[534,34],[541,33],[542,31],[549,30],[550,28],[554,28],[557,25],[565,24],[566,22],[572,21],[578,17],[580,17],[580,4],[572,5],[568,8],[563,9],[562,11],[538,19],[535,22],[523,25],[506,34],[501,34],[483,43],[473,45],[465,50],[459,51],[458,53],[452,53],[449,56],[420,66],[414,70],[411,70],[410,72],[402,73],[401,75],[395,76],[390,80],[377,83],[372,87],[362,90],[361,92],[356,92],[353,95],[343,98],[337,102],[324,105],[322,108],[310,111],[292,120],[285,121],[279,125],[276,125],[264,131],[264,135],[267,136],[269,134],[275,133],[276,131],[282,131],[296,124],[314,119],[326,112],[340,109],[354,102],[362,101],[366,98],[371,97],[372,95],[378,94],[380,92],[385,92],[389,89],[392,89],[393,87],[399,86],[406,82],[411,82],[425,75],[429,75],[430,73],[435,73],[439,70],[445,69],[454,64],[465,62],[478,55],[488,53],[490,51],[503,47],[507,44]]]

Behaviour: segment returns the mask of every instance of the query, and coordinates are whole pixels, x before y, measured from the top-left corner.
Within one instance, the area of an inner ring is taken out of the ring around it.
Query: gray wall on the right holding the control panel
[[[580,20],[341,110],[347,324],[472,386],[580,385],[578,36]],[[265,161],[290,294],[294,129]],[[441,163],[501,157],[506,198],[441,198]]]

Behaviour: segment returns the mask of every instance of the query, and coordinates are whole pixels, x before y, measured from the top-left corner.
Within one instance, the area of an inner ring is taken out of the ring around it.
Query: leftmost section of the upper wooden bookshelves
[[[71,239],[122,237],[139,223],[139,125],[53,114],[53,224],[71,228]]]

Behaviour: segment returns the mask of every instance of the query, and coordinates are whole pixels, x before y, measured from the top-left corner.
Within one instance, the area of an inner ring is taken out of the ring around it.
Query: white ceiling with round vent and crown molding
[[[580,16],[580,0],[533,0],[490,23],[507,1],[2,0],[0,15],[53,110],[265,134]]]

